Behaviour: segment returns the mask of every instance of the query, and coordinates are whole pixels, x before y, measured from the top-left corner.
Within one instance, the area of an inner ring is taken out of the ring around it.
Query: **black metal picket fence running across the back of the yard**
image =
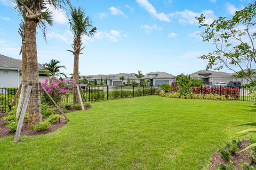
[[[90,102],[115,100],[121,98],[131,98],[139,96],[156,95],[159,86],[88,86],[82,89],[82,98]],[[220,86],[197,86],[191,87],[193,94],[217,94],[218,97],[225,95],[227,99],[256,101],[250,96],[250,87],[220,87]],[[177,92],[178,87],[173,87],[172,92]],[[12,103],[18,88],[0,88],[0,113],[6,112]],[[19,98],[15,101],[14,106],[18,106]],[[61,103],[73,103],[73,92],[61,101]]]

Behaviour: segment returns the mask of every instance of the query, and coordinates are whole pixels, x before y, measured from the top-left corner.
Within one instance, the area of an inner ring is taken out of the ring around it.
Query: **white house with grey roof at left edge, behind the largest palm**
[[[42,64],[38,64],[39,81],[47,77]],[[0,55],[0,88],[18,88],[21,83],[21,60]]]

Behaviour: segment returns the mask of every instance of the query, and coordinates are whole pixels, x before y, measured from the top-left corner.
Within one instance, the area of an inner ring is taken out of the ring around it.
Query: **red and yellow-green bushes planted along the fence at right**
[[[221,87],[221,86],[192,86],[191,94],[180,95],[179,87],[172,87],[170,91],[161,92],[161,96],[187,99],[221,99],[256,101],[250,96],[250,87]]]

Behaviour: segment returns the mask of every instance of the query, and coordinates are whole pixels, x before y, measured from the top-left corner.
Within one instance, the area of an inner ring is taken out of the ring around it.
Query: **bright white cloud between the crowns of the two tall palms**
[[[53,21],[55,23],[58,24],[67,24],[68,23],[68,17],[67,14],[64,10],[60,10],[60,9],[55,9],[53,7],[51,7],[50,5],[46,5],[47,7],[49,7],[49,9],[52,12],[52,16],[53,16]]]

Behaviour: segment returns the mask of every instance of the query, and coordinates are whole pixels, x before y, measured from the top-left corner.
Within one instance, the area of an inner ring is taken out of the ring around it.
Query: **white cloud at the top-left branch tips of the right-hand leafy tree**
[[[185,9],[184,11],[178,11],[171,13],[170,16],[173,18],[177,18],[178,22],[180,24],[197,24],[198,21],[196,20],[196,17],[200,16],[201,14],[205,15],[205,23],[212,23],[214,19],[217,17],[214,15],[214,12],[212,10],[203,10],[201,12],[193,12]]]

